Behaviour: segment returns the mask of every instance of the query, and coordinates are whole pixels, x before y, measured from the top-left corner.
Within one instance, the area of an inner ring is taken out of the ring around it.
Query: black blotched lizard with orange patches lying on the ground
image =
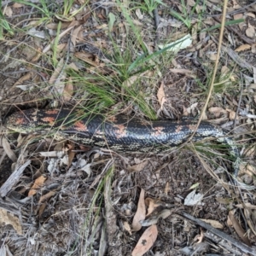
[[[6,126],[25,134],[54,131],[61,137],[89,146],[160,154],[186,142],[195,131],[196,123],[191,120],[147,121],[123,116],[107,120],[100,115],[84,118],[82,111],[62,108],[28,109],[14,113],[6,120]],[[233,163],[236,176],[241,159],[234,141],[226,137],[218,126],[201,122],[193,140],[205,137],[216,137],[218,142],[229,145],[230,154],[236,158]]]

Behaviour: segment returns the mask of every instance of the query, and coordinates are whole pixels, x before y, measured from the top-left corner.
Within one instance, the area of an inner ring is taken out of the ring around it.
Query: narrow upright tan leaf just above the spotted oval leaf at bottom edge
[[[137,203],[137,212],[135,213],[133,220],[132,220],[132,231],[137,231],[142,228],[142,224],[140,224],[141,220],[144,220],[146,217],[146,206],[144,201],[145,191],[144,189],[141,190],[140,198]]]

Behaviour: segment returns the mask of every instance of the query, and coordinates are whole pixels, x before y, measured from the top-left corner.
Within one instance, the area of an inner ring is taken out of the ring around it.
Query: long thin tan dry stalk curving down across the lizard
[[[217,52],[217,58],[216,58],[216,61],[215,61],[215,67],[214,67],[214,70],[213,70],[213,74],[212,74],[212,81],[211,81],[211,84],[210,84],[210,89],[209,89],[209,93],[208,93],[208,96],[207,96],[207,101],[204,105],[204,108],[202,109],[201,111],[201,116],[195,126],[195,131],[193,132],[192,136],[189,137],[189,141],[191,141],[191,139],[194,137],[195,135],[195,132],[197,131],[197,128],[198,126],[200,125],[201,123],[201,120],[207,110],[207,106],[208,106],[208,103],[210,101],[210,98],[212,96],[212,90],[213,90],[213,86],[214,86],[214,80],[215,80],[215,77],[216,77],[216,73],[217,73],[217,69],[218,69],[218,60],[219,60],[219,55],[220,55],[220,50],[221,50],[221,44],[222,44],[222,41],[223,41],[223,34],[224,34],[224,25],[225,25],[225,16],[226,16],[226,12],[227,12],[227,3],[228,3],[228,0],[224,0],[224,6],[223,6],[223,15],[222,15],[222,20],[221,20],[221,27],[220,27],[220,33],[219,33],[219,38],[218,38],[218,52]]]

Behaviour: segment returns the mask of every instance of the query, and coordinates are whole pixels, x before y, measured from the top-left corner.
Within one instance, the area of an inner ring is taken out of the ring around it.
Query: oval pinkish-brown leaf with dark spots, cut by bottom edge
[[[154,241],[156,240],[157,235],[158,231],[156,225],[152,225],[147,230],[145,230],[143,236],[140,237],[131,255],[143,256],[144,253],[147,253],[150,247],[154,245]]]

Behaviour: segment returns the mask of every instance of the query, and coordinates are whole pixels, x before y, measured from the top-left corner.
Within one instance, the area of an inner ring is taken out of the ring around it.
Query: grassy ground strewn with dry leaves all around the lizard
[[[213,79],[203,119],[230,131],[243,163],[237,188],[229,149],[214,141],[128,154],[3,125],[1,255],[255,253],[256,3],[230,1],[219,40],[222,12],[218,0],[3,3],[3,122],[20,109],[63,105],[198,119]],[[160,51],[188,35],[184,49]]]

